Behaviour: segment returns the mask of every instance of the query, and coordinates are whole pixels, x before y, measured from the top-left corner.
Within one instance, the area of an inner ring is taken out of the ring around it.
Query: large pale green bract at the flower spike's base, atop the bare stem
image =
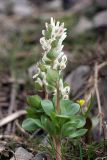
[[[47,71],[47,82],[51,85],[56,85],[56,82],[59,80],[59,73],[57,70],[48,69]]]

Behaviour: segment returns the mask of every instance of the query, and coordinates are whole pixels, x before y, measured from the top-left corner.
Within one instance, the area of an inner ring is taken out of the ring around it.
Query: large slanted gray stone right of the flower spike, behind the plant
[[[83,65],[76,68],[67,76],[65,81],[70,85],[73,95],[75,95],[85,85],[89,72],[90,67]]]

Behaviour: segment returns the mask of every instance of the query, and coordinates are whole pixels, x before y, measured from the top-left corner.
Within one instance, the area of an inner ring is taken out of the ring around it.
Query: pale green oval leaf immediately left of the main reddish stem
[[[50,100],[42,100],[41,101],[42,108],[44,112],[50,116],[52,112],[54,112],[53,103]]]

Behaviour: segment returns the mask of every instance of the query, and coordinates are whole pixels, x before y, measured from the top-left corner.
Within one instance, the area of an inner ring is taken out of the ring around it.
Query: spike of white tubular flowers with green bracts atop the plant
[[[43,37],[40,38],[40,43],[43,48],[42,60],[37,64],[37,73],[33,76],[35,83],[40,87],[48,88],[47,70],[54,69],[60,74],[66,67],[67,57],[62,51],[62,42],[66,38],[66,28],[64,23],[55,22],[51,18],[50,23],[46,23],[46,30],[42,30]],[[67,99],[70,92],[69,86],[64,86],[62,79],[59,80],[59,89],[63,98]],[[56,89],[54,88],[54,93]]]

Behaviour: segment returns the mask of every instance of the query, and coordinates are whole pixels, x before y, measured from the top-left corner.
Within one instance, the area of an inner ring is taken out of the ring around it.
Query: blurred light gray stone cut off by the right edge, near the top
[[[94,26],[95,27],[105,27],[107,26],[107,10],[102,11],[95,15],[93,18]]]

